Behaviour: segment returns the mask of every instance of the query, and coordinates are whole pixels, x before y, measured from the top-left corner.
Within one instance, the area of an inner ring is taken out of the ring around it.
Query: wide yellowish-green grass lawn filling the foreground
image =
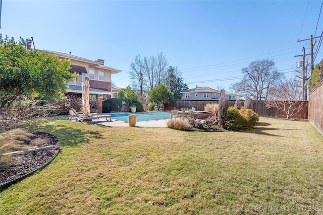
[[[50,120],[38,130],[59,138],[60,153],[0,192],[0,214],[323,213],[323,137],[309,122],[193,132]]]

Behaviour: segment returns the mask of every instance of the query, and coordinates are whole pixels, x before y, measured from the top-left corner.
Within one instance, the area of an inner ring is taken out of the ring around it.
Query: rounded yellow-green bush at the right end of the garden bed
[[[251,109],[230,107],[227,112],[225,128],[228,130],[244,130],[252,128],[259,121],[258,114]]]

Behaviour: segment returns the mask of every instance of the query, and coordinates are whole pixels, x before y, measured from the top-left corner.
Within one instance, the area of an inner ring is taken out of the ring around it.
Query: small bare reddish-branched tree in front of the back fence
[[[268,89],[266,107],[276,107],[286,114],[286,119],[294,116],[305,106],[301,100],[302,90],[294,79],[281,80],[275,87]]]

